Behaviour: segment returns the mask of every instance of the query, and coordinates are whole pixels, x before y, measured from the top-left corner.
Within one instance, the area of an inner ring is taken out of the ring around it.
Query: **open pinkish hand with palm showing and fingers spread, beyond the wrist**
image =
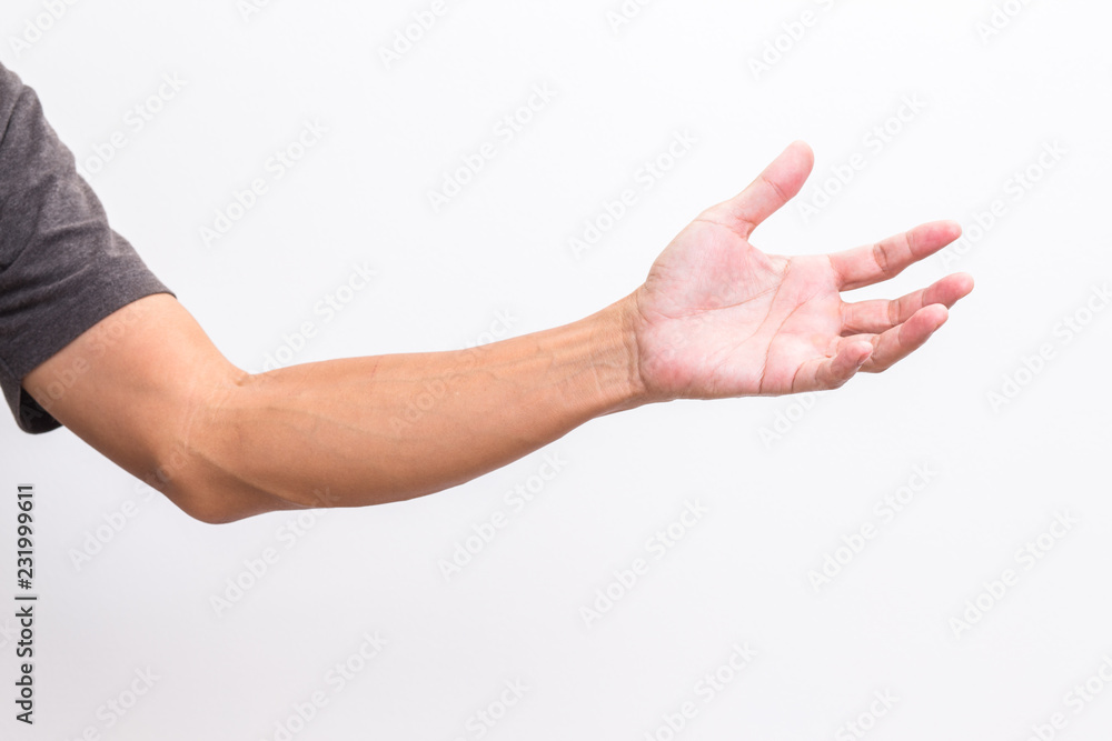
[[[921,347],[973,290],[947,276],[894,301],[841,291],[898,274],[961,234],[936,221],[845,252],[765,254],[753,230],[795,197],[814,164],[795,142],[736,198],[704,211],[664,250],[633,304],[638,368],[654,399],[776,395],[834,389]]]

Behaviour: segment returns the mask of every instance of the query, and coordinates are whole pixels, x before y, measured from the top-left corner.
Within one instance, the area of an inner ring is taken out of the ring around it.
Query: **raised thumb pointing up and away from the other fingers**
[[[732,229],[748,237],[762,221],[795,198],[814,164],[811,147],[794,141],[745,190],[712,208],[708,216],[725,220]]]

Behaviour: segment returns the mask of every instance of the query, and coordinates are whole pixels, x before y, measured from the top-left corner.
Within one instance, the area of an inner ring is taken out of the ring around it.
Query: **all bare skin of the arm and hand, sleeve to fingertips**
[[[973,281],[949,276],[894,301],[841,297],[942,249],[960,234],[953,222],[828,256],[753,247],[753,230],[800,191],[812,163],[806,144],[792,144],[685,228],[643,286],[565,327],[251,375],[157,294],[98,323],[23,385],[93,448],[214,523],[440,491],[647,403],[834,389],[921,347]]]

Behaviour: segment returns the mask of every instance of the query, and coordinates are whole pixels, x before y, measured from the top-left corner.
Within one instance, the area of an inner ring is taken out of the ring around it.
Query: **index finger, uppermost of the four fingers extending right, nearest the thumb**
[[[961,234],[962,227],[956,221],[932,221],[875,244],[827,257],[838,290],[848,291],[898,276],[907,266],[934,254]]]

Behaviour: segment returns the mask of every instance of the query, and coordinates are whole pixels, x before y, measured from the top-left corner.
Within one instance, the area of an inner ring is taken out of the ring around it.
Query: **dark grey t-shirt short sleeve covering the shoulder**
[[[0,66],[0,387],[21,429],[60,427],[23,378],[152,293],[172,294],[108,226],[34,91]]]

